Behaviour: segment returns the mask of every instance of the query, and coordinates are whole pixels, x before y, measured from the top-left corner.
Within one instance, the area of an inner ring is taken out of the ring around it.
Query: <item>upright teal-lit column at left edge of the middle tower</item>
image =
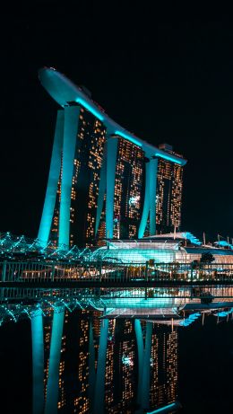
[[[114,219],[114,192],[115,192],[115,172],[116,154],[118,139],[108,136],[107,144],[107,194],[106,194],[106,237],[113,238],[113,219]]]

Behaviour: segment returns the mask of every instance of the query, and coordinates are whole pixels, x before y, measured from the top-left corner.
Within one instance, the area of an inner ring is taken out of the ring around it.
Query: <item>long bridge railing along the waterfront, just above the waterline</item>
[[[2,261],[0,282],[24,281],[233,281],[233,263],[80,263],[48,261]]]

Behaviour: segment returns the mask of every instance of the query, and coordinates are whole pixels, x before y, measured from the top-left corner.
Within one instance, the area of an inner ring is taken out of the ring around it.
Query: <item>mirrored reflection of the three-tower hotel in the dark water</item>
[[[61,309],[43,318],[45,412],[131,414],[176,401],[177,328],[101,317]]]

